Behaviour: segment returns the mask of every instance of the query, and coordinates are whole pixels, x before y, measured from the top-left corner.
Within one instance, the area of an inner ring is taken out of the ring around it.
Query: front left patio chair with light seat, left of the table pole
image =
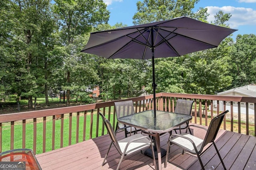
[[[155,155],[154,155],[154,149],[153,149],[153,143],[151,141],[151,139],[147,136],[143,136],[141,133],[137,133],[134,134],[132,136],[126,137],[124,139],[121,140],[117,140],[116,139],[116,133],[114,132],[114,129],[112,128],[112,125],[110,124],[110,122],[108,121],[108,119],[106,119],[106,117],[104,117],[104,115],[102,115],[102,113],[99,113],[100,116],[102,117],[102,120],[106,126],[106,129],[108,131],[108,134],[111,138],[111,143],[110,146],[108,148],[108,151],[106,153],[106,156],[102,162],[102,166],[104,166],[105,164],[105,160],[108,156],[108,152],[110,151],[110,148],[112,146],[112,144],[114,145],[114,147],[116,148],[116,150],[118,151],[118,153],[121,155],[120,161],[118,163],[118,166],[116,168],[116,170],[119,169],[120,164],[124,158],[124,156],[126,155],[130,155],[134,152],[137,151],[141,151],[142,149],[148,148],[150,147],[152,150],[152,155],[153,155],[153,162],[154,162],[154,166],[156,168],[156,159],[155,159]]]

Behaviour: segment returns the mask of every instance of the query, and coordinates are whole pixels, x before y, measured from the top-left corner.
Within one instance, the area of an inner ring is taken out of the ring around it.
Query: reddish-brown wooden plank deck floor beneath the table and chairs
[[[192,133],[198,137],[203,137],[205,132],[202,129],[192,129]],[[124,133],[118,133],[119,139],[124,137]],[[161,147],[166,149],[169,134],[160,137]],[[255,170],[256,169],[256,137],[242,135],[230,131],[220,130],[216,138],[216,145],[220,155],[224,160],[227,169],[230,170]],[[120,156],[114,146],[107,158],[107,163],[101,166],[104,156],[110,144],[110,137],[104,135],[95,139],[90,139],[82,143],[71,145],[50,152],[36,155],[43,170],[55,169],[85,169],[85,170],[107,170],[116,169]],[[185,153],[178,147],[171,146],[168,156],[168,170],[199,170],[201,169],[198,158]],[[222,164],[212,146],[202,156],[202,162],[206,170],[222,170]],[[162,158],[162,169],[164,169],[165,156]],[[123,170],[151,170],[155,169],[152,158],[141,154],[125,156],[121,164]]]

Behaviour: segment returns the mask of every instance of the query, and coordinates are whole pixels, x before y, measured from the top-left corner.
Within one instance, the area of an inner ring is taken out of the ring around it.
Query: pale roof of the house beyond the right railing
[[[231,92],[236,92],[237,94],[246,95],[248,97],[256,97],[256,84],[248,84],[246,86],[232,88],[224,92],[220,92],[217,95],[224,95]]]

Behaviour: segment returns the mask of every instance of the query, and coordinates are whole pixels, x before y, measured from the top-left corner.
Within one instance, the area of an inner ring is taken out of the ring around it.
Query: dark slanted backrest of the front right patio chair
[[[218,134],[218,131],[220,129],[220,125],[224,119],[224,116],[226,115],[226,113],[228,113],[229,111],[226,110],[222,113],[220,113],[219,115],[217,115],[216,117],[214,117],[212,120],[211,120],[211,123],[208,127],[208,130],[206,132],[206,135],[204,137],[204,142],[202,143],[202,147],[200,149],[199,152],[201,152],[203,150],[203,148],[205,147],[205,145],[207,145],[208,143],[211,143],[215,140],[217,134]]]

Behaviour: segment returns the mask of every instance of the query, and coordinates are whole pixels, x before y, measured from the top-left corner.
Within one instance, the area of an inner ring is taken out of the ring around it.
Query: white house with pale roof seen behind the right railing
[[[243,97],[256,97],[256,84],[249,84],[237,88],[232,88],[224,92],[220,92],[220,96],[243,96]],[[220,111],[223,111],[223,101],[220,101]],[[209,107],[209,109],[211,109]],[[230,110],[230,102],[226,102],[226,109]],[[213,110],[217,110],[217,101],[213,101]],[[246,113],[246,103],[240,102],[241,113]],[[233,102],[233,111],[238,113],[238,102]],[[249,115],[254,115],[254,103],[249,103]]]

